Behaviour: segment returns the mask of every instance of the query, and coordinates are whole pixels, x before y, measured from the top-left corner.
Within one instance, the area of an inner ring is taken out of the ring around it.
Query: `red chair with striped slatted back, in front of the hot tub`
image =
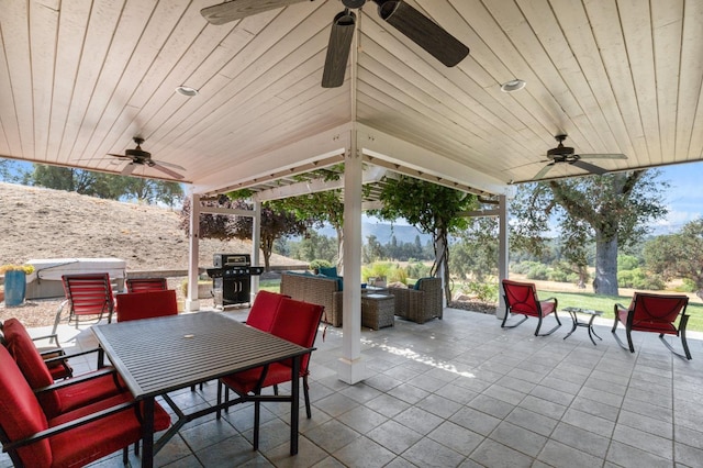
[[[108,323],[112,322],[114,300],[112,298],[112,286],[110,286],[110,275],[64,275],[62,280],[66,300],[58,307],[52,333],[56,333],[62,319],[62,311],[66,304],[69,305],[68,323],[72,320],[76,322],[76,326],[78,326],[78,317],[83,315],[98,315],[98,321],[100,321],[102,315],[107,313]]]

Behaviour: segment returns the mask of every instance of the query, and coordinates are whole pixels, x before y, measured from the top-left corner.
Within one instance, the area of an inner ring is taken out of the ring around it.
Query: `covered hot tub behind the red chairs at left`
[[[34,266],[34,272],[26,278],[26,299],[63,297],[63,275],[107,272],[115,292],[124,290],[126,261],[121,258],[46,258],[26,263]]]

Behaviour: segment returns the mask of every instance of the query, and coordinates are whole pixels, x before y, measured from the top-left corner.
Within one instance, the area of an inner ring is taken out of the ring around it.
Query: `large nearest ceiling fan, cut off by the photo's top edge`
[[[203,8],[200,13],[212,24],[224,24],[253,14],[300,3],[304,0],[231,0]],[[330,33],[327,56],[322,75],[323,88],[337,88],[344,82],[349,49],[356,26],[356,13],[352,10],[364,7],[367,0],[341,0],[344,11],[335,15]],[[402,0],[372,0],[378,4],[378,14],[391,26],[424,48],[447,67],[454,67],[467,55],[469,47]]]

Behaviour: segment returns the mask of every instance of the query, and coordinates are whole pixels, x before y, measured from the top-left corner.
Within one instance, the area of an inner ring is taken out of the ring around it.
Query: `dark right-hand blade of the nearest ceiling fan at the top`
[[[378,3],[381,19],[447,67],[454,67],[469,55],[469,47],[404,1],[373,1]]]

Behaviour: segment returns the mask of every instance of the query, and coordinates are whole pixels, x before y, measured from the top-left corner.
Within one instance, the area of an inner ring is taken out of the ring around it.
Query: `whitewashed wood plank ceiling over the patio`
[[[217,0],[2,2],[0,157],[120,172],[105,155],[138,135],[203,193],[334,163],[352,129],[367,160],[493,193],[531,180],[559,133],[627,155],[599,159],[609,170],[703,159],[700,0],[408,2],[469,57],[444,67],[369,2],[334,89],[320,81],[337,0],[220,26],[200,14]]]

